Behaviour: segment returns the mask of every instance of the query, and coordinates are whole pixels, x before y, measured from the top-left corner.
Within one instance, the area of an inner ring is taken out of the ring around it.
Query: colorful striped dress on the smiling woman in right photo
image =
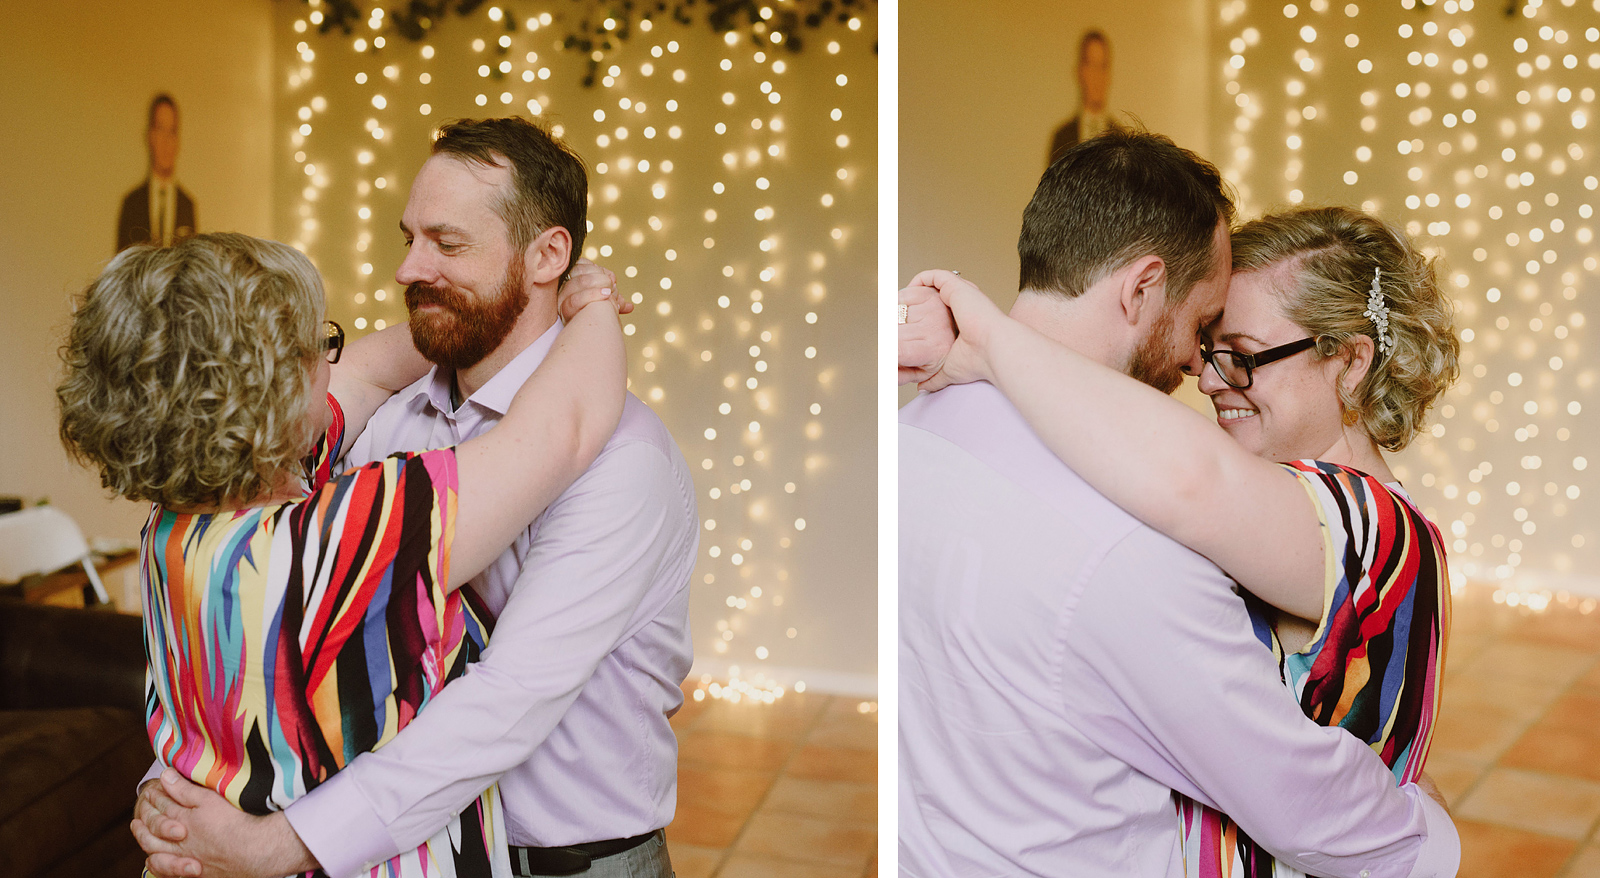
[[[1246,595],[1256,637],[1278,659],[1306,716],[1371,745],[1397,784],[1422,772],[1438,715],[1450,632],[1445,541],[1398,485],[1336,464],[1283,464],[1322,521],[1326,597],[1304,649],[1283,653],[1274,611]],[[1192,878],[1288,878],[1226,814],[1176,795],[1184,873]]]

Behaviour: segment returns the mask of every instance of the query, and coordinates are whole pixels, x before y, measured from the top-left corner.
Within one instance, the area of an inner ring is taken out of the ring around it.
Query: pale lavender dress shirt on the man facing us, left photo
[[[378,409],[346,464],[488,430],[558,331],[454,413],[448,373],[429,373]],[[323,868],[346,876],[416,848],[496,779],[512,844],[626,838],[672,822],[678,752],[667,718],[693,662],[698,545],[688,465],[629,395],[594,465],[472,579],[498,616],[483,659],[389,745],[288,808]]]

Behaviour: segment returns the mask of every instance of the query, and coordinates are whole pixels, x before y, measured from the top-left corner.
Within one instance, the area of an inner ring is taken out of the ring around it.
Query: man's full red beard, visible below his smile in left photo
[[[522,259],[512,259],[506,267],[506,280],[499,293],[478,302],[448,286],[413,283],[405,291],[405,307],[411,312],[411,344],[430,363],[470,369],[494,352],[510,334],[517,318],[528,307],[528,291],[523,289]],[[421,305],[440,305],[442,310],[418,310]]]

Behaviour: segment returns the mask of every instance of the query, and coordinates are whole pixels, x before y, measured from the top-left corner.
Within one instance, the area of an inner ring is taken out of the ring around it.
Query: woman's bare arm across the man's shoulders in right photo
[[[1107,499],[1267,603],[1322,617],[1322,525],[1299,480],[1178,400],[1000,313],[971,283],[923,272],[912,285],[939,289],[960,329],[923,389],[989,381]]]

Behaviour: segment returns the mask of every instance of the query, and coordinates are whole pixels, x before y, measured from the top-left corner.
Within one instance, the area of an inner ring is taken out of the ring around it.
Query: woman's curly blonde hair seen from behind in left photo
[[[61,350],[61,441],[101,485],[166,507],[251,501],[306,456],[322,278],[277,241],[133,246],[85,289]]]

